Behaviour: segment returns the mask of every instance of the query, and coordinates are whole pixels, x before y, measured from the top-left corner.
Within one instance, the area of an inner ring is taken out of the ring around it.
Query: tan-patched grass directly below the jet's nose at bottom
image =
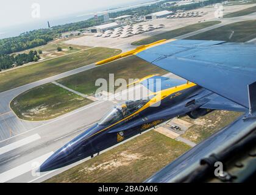
[[[188,149],[151,130],[46,182],[143,182]]]

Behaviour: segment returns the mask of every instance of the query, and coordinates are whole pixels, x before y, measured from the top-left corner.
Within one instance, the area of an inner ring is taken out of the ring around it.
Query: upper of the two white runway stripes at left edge
[[[35,134],[35,135],[31,135],[30,137],[24,138],[23,140],[19,140],[11,144],[8,144],[6,146],[0,147],[0,155],[6,152],[10,152],[18,147],[24,146],[26,144],[29,144],[39,139],[41,139],[40,135]]]

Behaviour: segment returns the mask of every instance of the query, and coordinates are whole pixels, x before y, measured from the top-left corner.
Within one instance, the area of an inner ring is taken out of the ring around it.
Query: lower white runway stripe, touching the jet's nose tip
[[[25,174],[26,172],[32,171],[32,169],[35,169],[35,165],[41,165],[47,158],[49,158],[54,152],[49,152],[48,154],[44,154],[41,157],[35,158],[34,160],[28,161],[27,163],[24,163],[23,165],[16,166],[13,169],[10,169],[9,171],[5,171],[0,174],[0,183],[7,182],[11,179],[14,179],[15,177],[21,176],[22,174]]]

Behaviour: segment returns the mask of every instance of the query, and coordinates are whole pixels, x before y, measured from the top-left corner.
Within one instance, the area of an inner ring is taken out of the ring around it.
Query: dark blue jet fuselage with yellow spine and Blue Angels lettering
[[[40,171],[51,171],[70,165],[111,147],[121,141],[180,115],[201,116],[210,112],[200,108],[212,92],[191,82],[157,91],[148,99],[127,101],[114,107],[97,124],[56,151]],[[154,106],[160,101],[158,106]],[[153,105],[153,106],[152,106]]]

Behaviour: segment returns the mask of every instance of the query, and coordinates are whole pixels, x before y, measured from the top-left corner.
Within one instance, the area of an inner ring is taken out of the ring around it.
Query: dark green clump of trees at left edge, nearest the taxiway
[[[29,62],[37,62],[40,59],[37,51],[30,51],[28,54],[8,55],[0,54],[0,71],[13,66],[21,66]]]

